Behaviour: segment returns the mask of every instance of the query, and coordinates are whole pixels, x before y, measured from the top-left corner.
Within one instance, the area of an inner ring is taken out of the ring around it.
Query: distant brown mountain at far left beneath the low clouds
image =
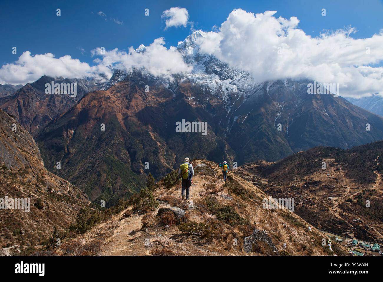
[[[45,93],[45,85],[77,83],[76,97],[70,94]],[[15,94],[0,98],[0,108],[15,116],[32,136],[36,136],[52,119],[69,110],[81,97],[95,90],[97,85],[84,79],[54,79],[43,76],[31,84],[21,87]]]

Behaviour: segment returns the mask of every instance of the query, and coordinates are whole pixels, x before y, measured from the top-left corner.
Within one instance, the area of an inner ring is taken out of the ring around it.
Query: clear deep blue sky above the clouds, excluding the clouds
[[[130,46],[149,45],[159,37],[165,39],[165,46],[177,46],[191,33],[191,25],[164,30],[161,14],[170,7],[186,8],[194,28],[203,31],[211,31],[214,25],[219,27],[234,8],[252,13],[276,10],[275,17],[296,16],[300,20],[298,28],[311,36],[318,36],[323,30],[353,26],[358,32],[352,37],[366,38],[383,28],[383,5],[377,0],[2,1],[1,7],[1,65],[16,61],[27,50],[32,55],[47,52],[56,57],[70,55],[92,65],[90,50],[101,46],[128,50]],[[61,9],[61,16],[56,16],[57,8]],[[144,15],[146,8],[149,16]],[[322,8],[326,8],[326,16],[321,16]],[[98,15],[100,11],[106,17]],[[17,54],[12,54],[13,46],[17,47]]]

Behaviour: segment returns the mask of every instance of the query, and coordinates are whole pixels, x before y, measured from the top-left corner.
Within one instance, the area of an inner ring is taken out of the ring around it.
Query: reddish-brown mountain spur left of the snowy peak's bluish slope
[[[225,156],[227,144],[211,129],[206,136],[195,133],[193,138],[176,134],[177,116],[202,120],[193,101],[185,95],[174,97],[155,81],[150,85],[146,93],[144,85],[124,80],[106,91],[85,95],[39,134],[46,167],[55,171],[56,160],[61,161],[59,175],[82,187],[91,200],[112,204],[141,189],[144,172],[156,177],[170,172],[184,157],[175,152]],[[188,91],[188,85],[184,87]]]

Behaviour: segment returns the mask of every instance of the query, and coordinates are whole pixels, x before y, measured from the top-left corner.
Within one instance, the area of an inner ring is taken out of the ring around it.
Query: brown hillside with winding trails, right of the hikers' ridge
[[[382,156],[383,141],[347,150],[316,147],[243,165],[236,174],[273,198],[295,198],[295,213],[319,230],[381,243]]]

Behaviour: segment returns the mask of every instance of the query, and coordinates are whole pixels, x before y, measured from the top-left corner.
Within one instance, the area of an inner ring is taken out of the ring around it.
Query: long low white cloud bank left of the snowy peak
[[[105,74],[110,78],[112,72],[108,66],[125,71],[146,69],[155,76],[169,77],[179,72],[190,72],[180,52],[175,47],[167,49],[163,38],[157,38],[152,44],[140,48],[143,52],[136,52],[133,47],[129,52],[116,49],[102,50],[96,48],[91,51],[92,56],[100,56],[94,59],[95,66],[90,66],[79,59],[73,59],[69,55],[56,58],[54,54],[31,55],[26,51],[17,61],[5,64],[0,69],[0,84],[26,84],[38,80],[43,75],[52,77],[83,78],[96,77],[102,79],[99,74]]]

